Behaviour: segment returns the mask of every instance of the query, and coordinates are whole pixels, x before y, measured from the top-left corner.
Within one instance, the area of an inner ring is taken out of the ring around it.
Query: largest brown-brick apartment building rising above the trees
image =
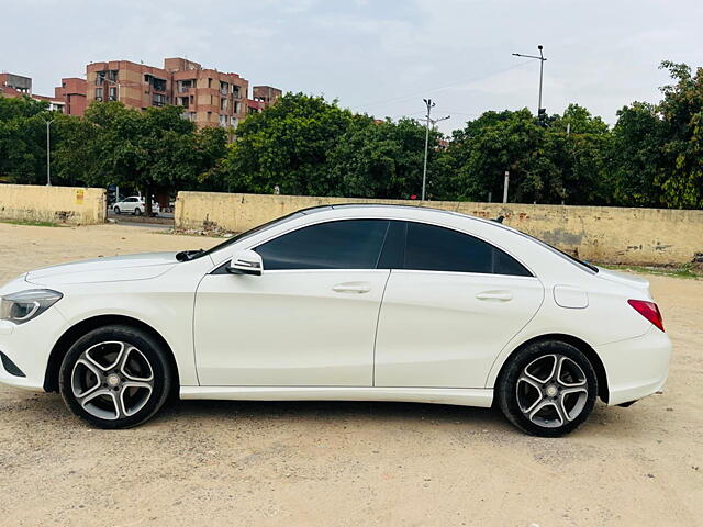
[[[246,79],[186,58],[166,58],[163,68],[129,60],[91,63],[86,78],[88,104],[121,101],[137,109],[174,104],[200,127],[234,128],[247,113]]]

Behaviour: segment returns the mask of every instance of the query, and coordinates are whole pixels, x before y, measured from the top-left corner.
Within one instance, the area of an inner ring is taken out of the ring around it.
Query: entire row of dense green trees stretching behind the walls
[[[527,109],[488,111],[446,149],[431,131],[428,198],[500,201],[507,170],[511,202],[703,208],[703,68],[661,68],[672,78],[662,100],[624,106],[612,128],[570,104],[543,122]],[[46,120],[55,184],[388,199],[422,191],[423,123],[377,121],[302,93],[249,115],[232,144],[176,106],[102,102],[79,119],[0,99],[0,181],[45,182]]]

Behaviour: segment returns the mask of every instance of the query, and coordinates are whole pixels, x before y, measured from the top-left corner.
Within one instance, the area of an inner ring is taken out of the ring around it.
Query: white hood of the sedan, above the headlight
[[[111,256],[36,269],[30,271],[25,280],[38,285],[148,280],[176,264],[176,253]]]

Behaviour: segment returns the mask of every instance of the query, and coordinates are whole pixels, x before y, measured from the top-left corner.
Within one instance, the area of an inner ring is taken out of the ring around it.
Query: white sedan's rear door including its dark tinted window
[[[482,239],[394,223],[402,249],[379,316],[375,385],[483,388],[498,354],[539,309],[542,283]]]

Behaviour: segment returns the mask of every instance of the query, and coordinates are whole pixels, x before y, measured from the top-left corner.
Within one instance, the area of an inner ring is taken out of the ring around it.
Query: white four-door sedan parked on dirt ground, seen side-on
[[[648,282],[499,223],[414,206],[295,212],[210,249],[0,289],[0,382],[104,428],[181,399],[491,406],[542,436],[660,390]]]

